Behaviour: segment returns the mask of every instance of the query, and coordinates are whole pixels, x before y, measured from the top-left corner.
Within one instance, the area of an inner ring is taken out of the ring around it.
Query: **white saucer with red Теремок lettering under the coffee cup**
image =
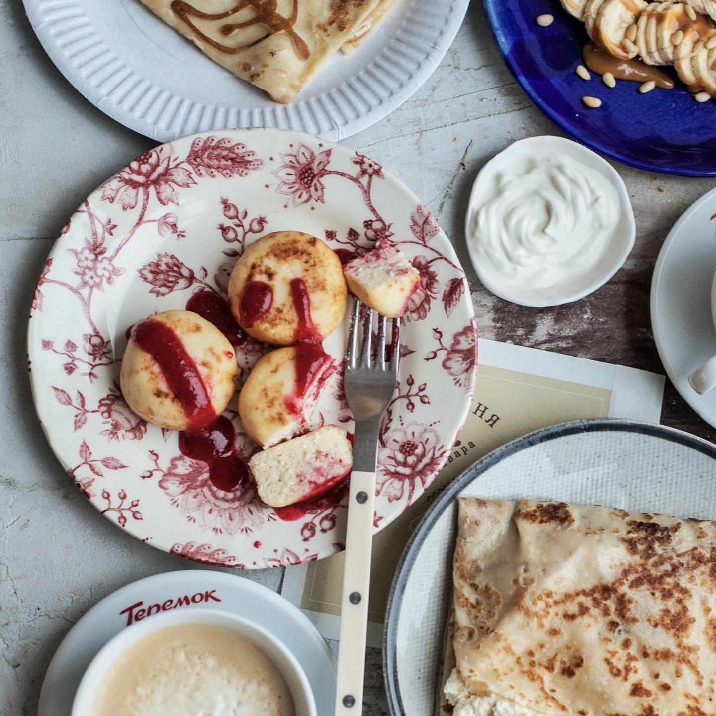
[[[92,657],[127,626],[125,611],[143,602],[175,603],[180,597],[209,593],[195,606],[212,606],[248,617],[268,629],[299,659],[316,697],[319,714],[332,712],[336,690],[336,665],[323,637],[307,616],[276,592],[233,574],[205,569],[179,570],[140,579],[117,589],[87,611],[69,630],[52,657],[40,692],[37,716],[68,716],[79,679]],[[198,600],[198,597],[195,597]],[[221,601],[216,601],[221,600]],[[180,609],[193,609],[193,604]],[[135,606],[136,612],[141,607]],[[122,614],[122,611],[125,613]]]

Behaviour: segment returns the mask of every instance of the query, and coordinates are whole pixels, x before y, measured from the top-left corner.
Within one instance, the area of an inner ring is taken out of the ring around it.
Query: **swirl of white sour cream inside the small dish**
[[[493,284],[554,286],[585,274],[620,216],[607,178],[566,155],[534,153],[495,173],[469,240]]]

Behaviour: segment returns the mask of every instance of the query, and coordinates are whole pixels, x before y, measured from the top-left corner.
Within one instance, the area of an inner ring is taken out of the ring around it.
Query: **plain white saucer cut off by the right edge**
[[[669,379],[682,398],[716,427],[716,390],[698,395],[688,375],[716,354],[711,280],[716,269],[716,189],[695,201],[659,251],[652,279],[652,329]]]

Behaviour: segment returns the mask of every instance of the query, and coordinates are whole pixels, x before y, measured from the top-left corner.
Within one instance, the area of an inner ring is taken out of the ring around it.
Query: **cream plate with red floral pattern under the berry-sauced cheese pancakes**
[[[79,207],[39,279],[29,321],[34,401],[54,453],[107,518],[151,545],[217,566],[263,568],[343,547],[344,500],[280,515],[252,485],[212,483],[178,434],[147,425],[119,390],[127,329],[195,294],[226,297],[243,248],[296,229],[353,253],[390,237],[420,271],[397,390],[382,424],[375,529],[412,503],[448,458],[470,405],[477,356],[467,281],[425,205],[381,165],[286,130],[226,130],[161,145]],[[324,342],[340,362],[346,321]],[[236,346],[241,376],[268,347]],[[352,430],[337,369],[314,424]],[[236,404],[236,450],[254,445]]]

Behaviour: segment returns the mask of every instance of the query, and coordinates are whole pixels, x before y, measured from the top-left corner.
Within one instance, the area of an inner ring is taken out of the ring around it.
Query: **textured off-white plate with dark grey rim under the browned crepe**
[[[662,425],[579,420],[509,442],[460,475],[413,533],[392,584],[383,662],[393,716],[435,716],[461,495],[713,519],[716,446]]]

